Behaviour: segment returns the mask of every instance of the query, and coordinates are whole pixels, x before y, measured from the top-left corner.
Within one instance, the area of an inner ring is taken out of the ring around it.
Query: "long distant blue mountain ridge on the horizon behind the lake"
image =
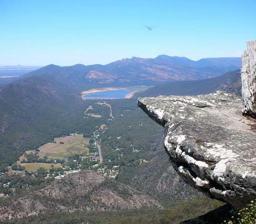
[[[159,55],[156,58],[122,59],[107,65],[48,65],[26,76],[58,76],[63,82],[94,85],[155,85],[162,82],[214,78],[241,67],[241,58],[205,58]]]

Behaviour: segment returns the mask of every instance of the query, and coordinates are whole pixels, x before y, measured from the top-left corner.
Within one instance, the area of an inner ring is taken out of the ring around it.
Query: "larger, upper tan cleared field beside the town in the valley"
[[[47,156],[49,158],[67,158],[74,154],[89,154],[89,149],[86,147],[89,144],[87,138],[83,138],[83,135],[66,136],[55,138],[56,143],[47,143],[39,147],[40,152],[38,156],[40,158]],[[64,144],[60,144],[64,142]]]

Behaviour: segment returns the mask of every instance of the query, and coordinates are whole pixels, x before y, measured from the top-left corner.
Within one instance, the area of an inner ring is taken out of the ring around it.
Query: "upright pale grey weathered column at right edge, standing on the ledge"
[[[242,111],[256,117],[256,40],[247,42],[242,55]]]

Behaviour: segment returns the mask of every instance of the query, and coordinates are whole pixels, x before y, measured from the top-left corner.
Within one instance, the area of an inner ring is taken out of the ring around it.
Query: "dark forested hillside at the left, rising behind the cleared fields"
[[[83,120],[89,101],[54,76],[32,76],[0,89],[0,164],[11,165],[25,149],[74,131],[90,131]]]

